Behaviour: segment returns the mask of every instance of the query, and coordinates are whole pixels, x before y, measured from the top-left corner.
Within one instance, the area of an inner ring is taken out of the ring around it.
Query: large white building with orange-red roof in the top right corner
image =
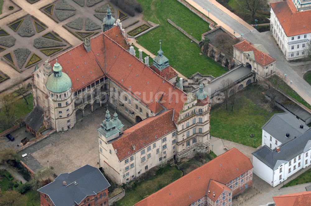
[[[311,12],[291,0],[271,4],[271,31],[286,60],[303,58],[311,39]]]

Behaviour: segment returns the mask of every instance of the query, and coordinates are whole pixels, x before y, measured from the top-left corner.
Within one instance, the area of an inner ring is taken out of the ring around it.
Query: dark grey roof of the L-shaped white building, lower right
[[[252,154],[268,167],[275,170],[281,165],[281,163],[289,162],[299,154],[310,150],[311,130],[291,141],[281,144],[279,147],[281,150],[280,152],[277,152],[276,149],[272,150],[265,145]]]

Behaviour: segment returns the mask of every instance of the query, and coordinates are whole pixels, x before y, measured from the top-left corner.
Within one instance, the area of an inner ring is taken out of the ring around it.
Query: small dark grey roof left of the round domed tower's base
[[[43,125],[44,120],[44,110],[39,105],[35,106],[35,108],[28,114],[25,124],[33,128],[36,132]]]

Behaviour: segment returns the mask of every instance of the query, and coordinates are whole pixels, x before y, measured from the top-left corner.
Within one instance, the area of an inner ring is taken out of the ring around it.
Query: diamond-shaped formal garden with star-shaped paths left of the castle
[[[30,15],[3,25],[0,29],[0,55],[18,72],[68,47],[71,47],[69,43]]]

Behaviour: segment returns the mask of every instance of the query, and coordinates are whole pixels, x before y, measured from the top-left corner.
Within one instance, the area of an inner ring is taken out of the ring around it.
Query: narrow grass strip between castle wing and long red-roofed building
[[[116,202],[116,204],[118,206],[132,206],[148,195],[151,195],[169,183],[177,180],[181,176],[182,172],[177,167],[167,165],[164,168],[159,169],[156,175],[149,180],[142,181],[130,190],[125,191],[125,196]]]

